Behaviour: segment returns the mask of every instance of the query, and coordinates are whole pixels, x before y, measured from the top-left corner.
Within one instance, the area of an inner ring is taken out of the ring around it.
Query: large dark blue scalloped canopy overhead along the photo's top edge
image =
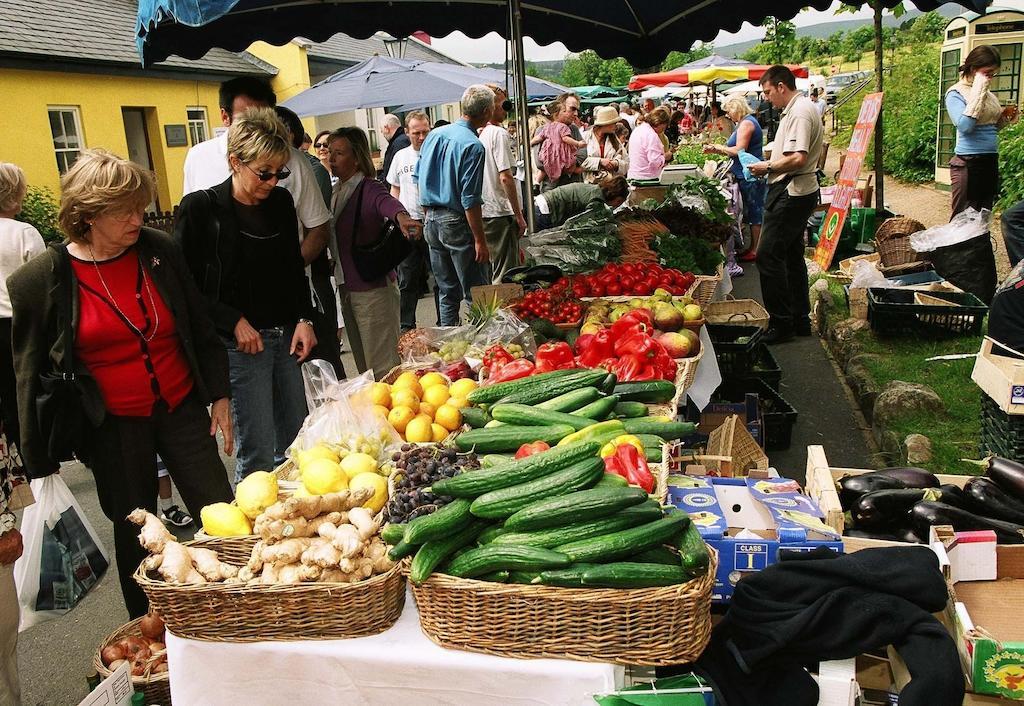
[[[900,0],[882,0],[886,7]],[[856,3],[861,4],[861,3]],[[922,10],[942,0],[914,0]],[[962,0],[983,11],[988,0]],[[771,15],[790,19],[805,6],[827,9],[831,0],[529,0],[522,3],[522,34],[538,44],[564,42],[572,51],[594,48],[634,66],[659,64],[673,49],[711,41],[720,30]],[[143,66],[171,54],[199,58],[212,47],[243,51],[256,40],[285,44],[297,36],[321,42],[338,32],[366,38],[379,31],[408,37],[423,31],[444,37],[497,32],[508,38],[503,0],[139,0],[136,43]],[[750,77],[748,77],[750,78]]]

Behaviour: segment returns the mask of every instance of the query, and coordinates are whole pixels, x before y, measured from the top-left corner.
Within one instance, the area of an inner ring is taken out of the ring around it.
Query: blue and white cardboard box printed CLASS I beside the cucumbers
[[[774,564],[779,549],[843,551],[840,535],[790,479],[674,476],[669,502],[718,550],[716,603],[728,603],[736,582]]]

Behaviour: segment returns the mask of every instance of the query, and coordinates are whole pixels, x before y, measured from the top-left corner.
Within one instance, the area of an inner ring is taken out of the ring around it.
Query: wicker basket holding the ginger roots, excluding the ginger
[[[255,537],[218,537],[186,545],[213,549],[222,562],[245,566],[255,543]],[[174,586],[150,578],[141,566],[134,579],[168,630],[220,642],[375,635],[394,624],[406,603],[406,578],[398,565],[358,583]]]

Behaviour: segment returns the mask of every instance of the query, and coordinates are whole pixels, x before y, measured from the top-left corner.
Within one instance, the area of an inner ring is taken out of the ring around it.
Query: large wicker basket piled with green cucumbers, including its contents
[[[711,635],[717,556],[581,442],[435,482],[454,498],[382,531],[407,558],[423,631],[516,658],[666,665]]]

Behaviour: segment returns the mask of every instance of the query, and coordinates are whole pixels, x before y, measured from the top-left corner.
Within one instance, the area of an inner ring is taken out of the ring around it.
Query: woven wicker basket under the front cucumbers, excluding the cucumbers
[[[434,574],[413,595],[420,627],[443,648],[518,659],[670,665],[691,662],[711,638],[708,573],[658,588],[557,588]]]

